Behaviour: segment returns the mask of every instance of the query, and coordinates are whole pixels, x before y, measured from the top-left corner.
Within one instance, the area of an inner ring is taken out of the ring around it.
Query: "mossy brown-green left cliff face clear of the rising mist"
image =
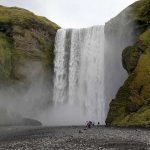
[[[0,82],[23,81],[24,65],[41,62],[53,69],[54,40],[59,26],[17,7],[0,6]]]

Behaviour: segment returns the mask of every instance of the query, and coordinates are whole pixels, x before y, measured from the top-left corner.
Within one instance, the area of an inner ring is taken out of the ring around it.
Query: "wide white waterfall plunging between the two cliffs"
[[[105,124],[104,27],[58,30],[54,73],[54,109],[65,106],[68,120],[77,113],[82,118],[78,124],[85,120]]]

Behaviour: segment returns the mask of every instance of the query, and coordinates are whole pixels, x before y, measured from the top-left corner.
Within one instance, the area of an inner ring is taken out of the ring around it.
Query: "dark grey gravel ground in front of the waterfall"
[[[83,129],[0,128],[0,150],[150,150],[150,129],[104,126]]]

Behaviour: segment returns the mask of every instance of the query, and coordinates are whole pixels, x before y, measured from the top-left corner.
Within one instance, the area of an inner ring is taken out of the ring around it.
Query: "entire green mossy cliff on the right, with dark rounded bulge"
[[[135,43],[122,53],[129,77],[110,103],[106,124],[150,126],[150,1],[140,0],[129,8]]]

